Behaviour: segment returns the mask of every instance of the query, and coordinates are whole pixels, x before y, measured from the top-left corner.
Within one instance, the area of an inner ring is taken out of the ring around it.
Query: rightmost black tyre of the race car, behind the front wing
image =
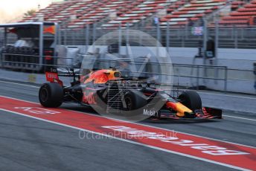
[[[202,109],[202,100],[196,91],[184,91],[179,95],[178,100],[193,112]]]

